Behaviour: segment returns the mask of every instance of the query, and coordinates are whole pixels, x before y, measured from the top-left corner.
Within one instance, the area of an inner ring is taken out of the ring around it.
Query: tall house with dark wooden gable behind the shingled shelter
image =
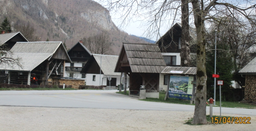
[[[156,42],[166,66],[180,67],[181,31],[181,23],[176,23]],[[191,40],[196,39],[195,34],[194,28],[190,28],[189,35]],[[168,75],[160,74],[160,90],[166,90],[167,84]]]

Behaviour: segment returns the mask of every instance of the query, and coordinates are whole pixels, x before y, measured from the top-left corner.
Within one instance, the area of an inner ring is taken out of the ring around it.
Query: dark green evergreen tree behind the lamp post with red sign
[[[208,41],[209,42],[209,41]],[[214,49],[214,40],[209,44],[210,49]],[[222,100],[233,101],[233,92],[231,88],[231,81],[233,81],[233,58],[230,47],[225,43],[224,39],[218,40],[216,53],[216,74],[220,75],[216,78],[216,83],[219,80],[224,81],[224,85],[221,86],[221,96]],[[210,50],[206,52],[206,72],[207,72],[207,98],[213,98],[214,96],[214,58],[215,50]],[[219,100],[219,86],[216,84],[216,99]]]

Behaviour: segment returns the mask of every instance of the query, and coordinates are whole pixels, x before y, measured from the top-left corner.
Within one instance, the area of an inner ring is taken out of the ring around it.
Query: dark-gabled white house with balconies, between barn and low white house
[[[72,63],[65,64],[64,77],[85,79],[85,73],[80,73],[92,53],[83,45],[83,41],[77,42],[68,52]]]

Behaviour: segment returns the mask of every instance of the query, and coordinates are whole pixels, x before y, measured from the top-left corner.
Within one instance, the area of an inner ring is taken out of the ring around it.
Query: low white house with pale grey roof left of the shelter
[[[114,72],[117,60],[118,56],[93,54],[81,70],[81,73],[86,74],[86,85],[118,87],[121,73]],[[111,81],[108,80],[109,76],[111,77]],[[129,77],[127,77],[128,86]]]

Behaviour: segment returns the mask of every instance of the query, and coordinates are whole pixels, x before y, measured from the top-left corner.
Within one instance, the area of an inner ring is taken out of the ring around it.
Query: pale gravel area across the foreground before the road
[[[218,114],[216,114],[218,115]],[[253,131],[251,124],[185,125],[192,111],[0,106],[0,131]]]

